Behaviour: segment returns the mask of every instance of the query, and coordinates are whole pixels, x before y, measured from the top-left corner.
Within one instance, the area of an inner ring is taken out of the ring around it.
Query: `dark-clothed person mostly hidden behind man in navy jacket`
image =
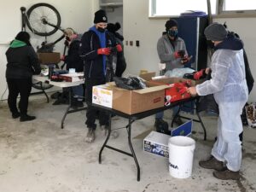
[[[115,24],[113,23],[108,23],[107,29],[108,33],[115,38],[115,41],[117,44],[121,44],[123,51],[117,52],[116,55],[116,69],[115,69],[115,75],[117,77],[122,77],[122,74],[125,72],[126,69],[126,61],[125,61],[125,55],[124,55],[124,37],[117,32],[121,28],[121,25],[119,22],[116,22]]]

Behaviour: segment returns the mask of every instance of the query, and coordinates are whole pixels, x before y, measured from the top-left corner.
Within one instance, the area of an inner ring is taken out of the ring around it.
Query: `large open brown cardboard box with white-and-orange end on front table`
[[[165,89],[168,85],[146,82],[148,88],[125,90],[113,82],[93,87],[92,103],[113,108],[123,113],[134,114],[165,105]]]

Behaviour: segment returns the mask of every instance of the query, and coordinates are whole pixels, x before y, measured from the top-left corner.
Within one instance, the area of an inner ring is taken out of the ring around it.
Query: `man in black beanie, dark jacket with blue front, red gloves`
[[[108,131],[108,114],[91,108],[92,87],[94,85],[105,84],[107,80],[107,60],[112,54],[113,48],[118,52],[122,51],[120,44],[115,44],[109,37],[108,17],[102,9],[96,11],[94,17],[94,26],[91,26],[88,32],[84,32],[79,47],[79,53],[84,61],[85,78],[85,100],[87,102],[85,125],[88,128],[85,142],[93,143],[96,135],[96,115],[99,113],[99,123],[105,134]],[[116,131],[112,131],[112,137],[118,137]]]

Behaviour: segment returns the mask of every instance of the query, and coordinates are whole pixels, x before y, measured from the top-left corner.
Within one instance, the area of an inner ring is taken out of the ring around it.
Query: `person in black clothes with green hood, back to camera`
[[[28,97],[32,90],[32,74],[39,74],[41,67],[38,55],[30,44],[30,35],[19,32],[5,53],[7,58],[6,81],[9,89],[8,105],[14,119],[20,121],[36,119],[27,114]],[[17,97],[20,94],[19,109]]]

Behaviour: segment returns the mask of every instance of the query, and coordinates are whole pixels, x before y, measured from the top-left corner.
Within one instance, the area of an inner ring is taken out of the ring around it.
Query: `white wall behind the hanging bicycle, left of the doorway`
[[[98,3],[95,0],[44,0],[44,3],[49,3],[57,9],[61,15],[61,27],[67,28],[72,27],[77,32],[84,33],[93,24],[93,16],[96,9],[98,9]],[[0,38],[0,99],[6,99],[8,96],[8,90],[3,95],[6,89],[5,80],[5,69],[6,69],[6,58],[5,51],[8,49],[9,41],[15,38],[16,34],[21,30],[21,19],[20,19],[20,7],[29,9],[35,3],[42,3],[38,0],[9,0],[2,4],[0,7],[0,13],[3,15],[0,18],[1,26],[1,38]],[[27,30],[27,32],[30,32]],[[32,45],[37,47],[44,41],[44,38],[38,35],[32,36]],[[55,32],[52,36],[49,36],[48,42],[53,42],[57,38],[61,37],[62,32]],[[55,45],[55,51],[63,53],[64,40]]]

